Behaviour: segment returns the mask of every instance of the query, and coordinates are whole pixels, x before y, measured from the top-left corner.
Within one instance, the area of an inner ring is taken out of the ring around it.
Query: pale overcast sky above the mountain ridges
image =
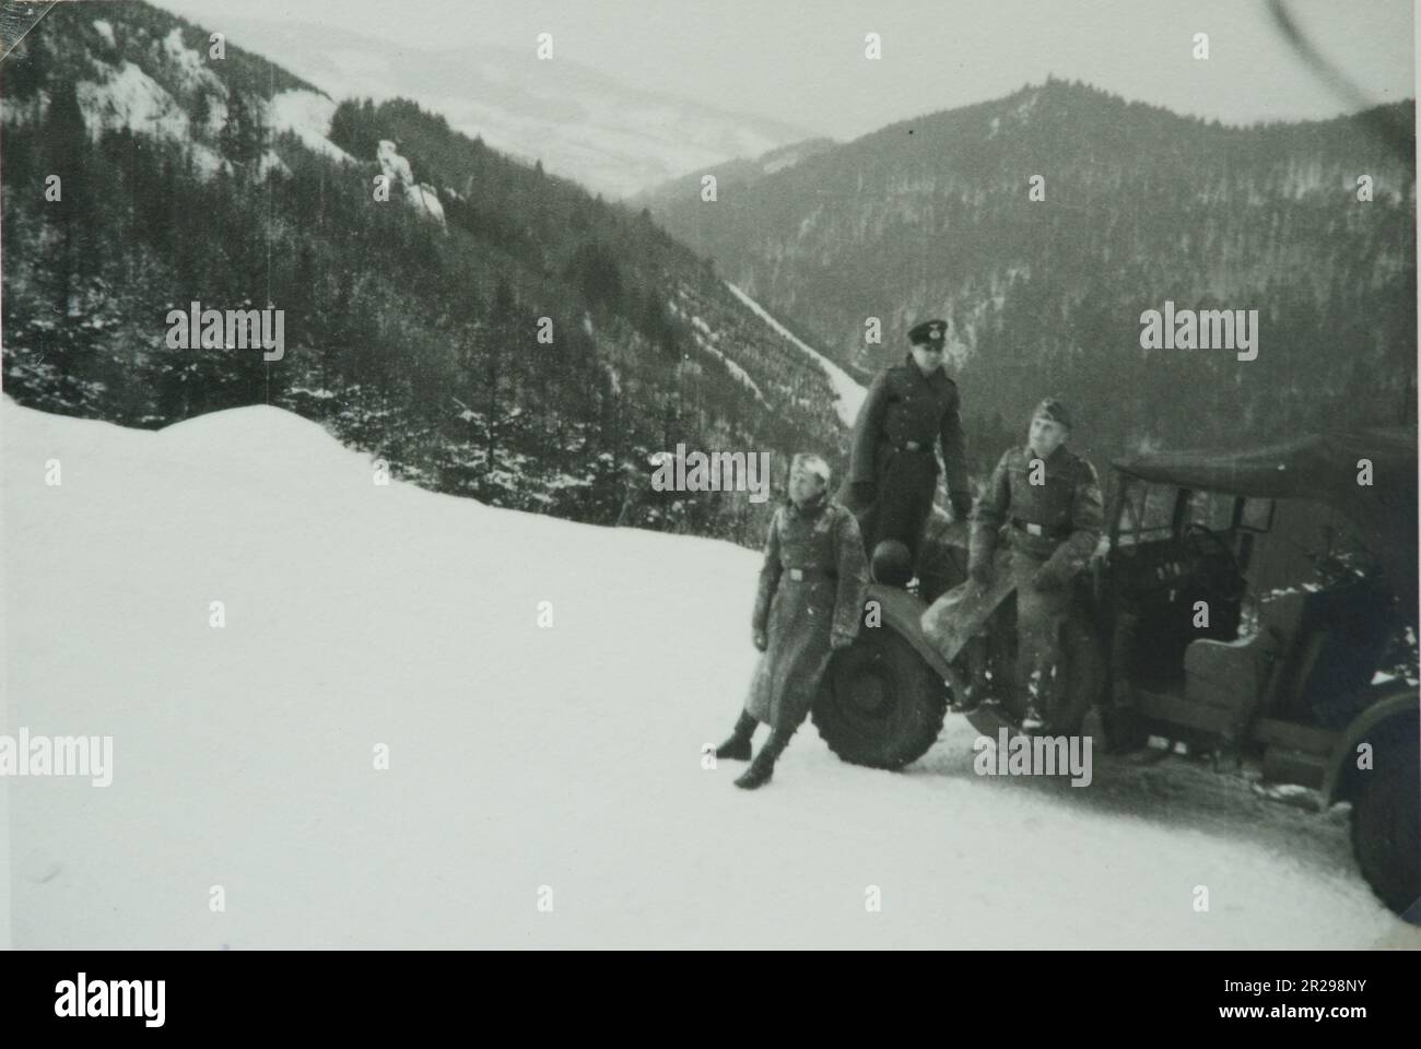
[[[1225,122],[1349,111],[1297,60],[1262,0],[159,0],[220,28],[340,26],[398,48],[526,48],[628,85],[848,139],[996,98],[1047,74]],[[1319,50],[1368,98],[1415,95],[1411,0],[1292,3]],[[864,58],[864,37],[882,58]],[[1191,57],[1209,34],[1209,60]],[[240,38],[236,43],[242,44]],[[259,41],[253,41],[253,45]],[[259,50],[259,48],[257,48]]]

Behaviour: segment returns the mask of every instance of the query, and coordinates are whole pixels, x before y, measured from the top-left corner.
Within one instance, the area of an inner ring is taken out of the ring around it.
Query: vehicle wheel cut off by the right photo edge
[[[1351,807],[1351,850],[1387,907],[1421,924],[1421,765],[1405,746],[1378,751]]]

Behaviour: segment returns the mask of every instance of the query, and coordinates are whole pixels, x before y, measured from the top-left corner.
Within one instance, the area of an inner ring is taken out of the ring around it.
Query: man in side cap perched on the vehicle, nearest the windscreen
[[[1096,468],[1066,448],[1070,426],[1060,401],[1042,401],[1032,412],[1027,443],[1002,456],[972,519],[968,574],[980,586],[993,580],[998,532],[1006,526],[1016,580],[1017,688],[1027,694],[1029,728],[1054,709],[1052,669],[1070,581],[1096,550],[1104,526]]]

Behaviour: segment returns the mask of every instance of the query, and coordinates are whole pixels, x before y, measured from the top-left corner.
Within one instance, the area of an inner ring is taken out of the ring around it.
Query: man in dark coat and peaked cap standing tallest
[[[838,497],[858,519],[870,557],[880,543],[898,540],[917,566],[938,488],[934,442],[942,446],[953,516],[966,520],[972,510],[958,387],[942,367],[946,341],[946,321],[915,326],[908,357],[878,374],[854,422],[848,478]]]

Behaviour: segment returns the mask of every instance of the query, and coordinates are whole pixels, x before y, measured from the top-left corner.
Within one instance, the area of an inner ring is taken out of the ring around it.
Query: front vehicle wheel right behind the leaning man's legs
[[[942,678],[895,631],[877,627],[834,652],[811,716],[845,762],[901,769],[936,741],[946,706]]]

